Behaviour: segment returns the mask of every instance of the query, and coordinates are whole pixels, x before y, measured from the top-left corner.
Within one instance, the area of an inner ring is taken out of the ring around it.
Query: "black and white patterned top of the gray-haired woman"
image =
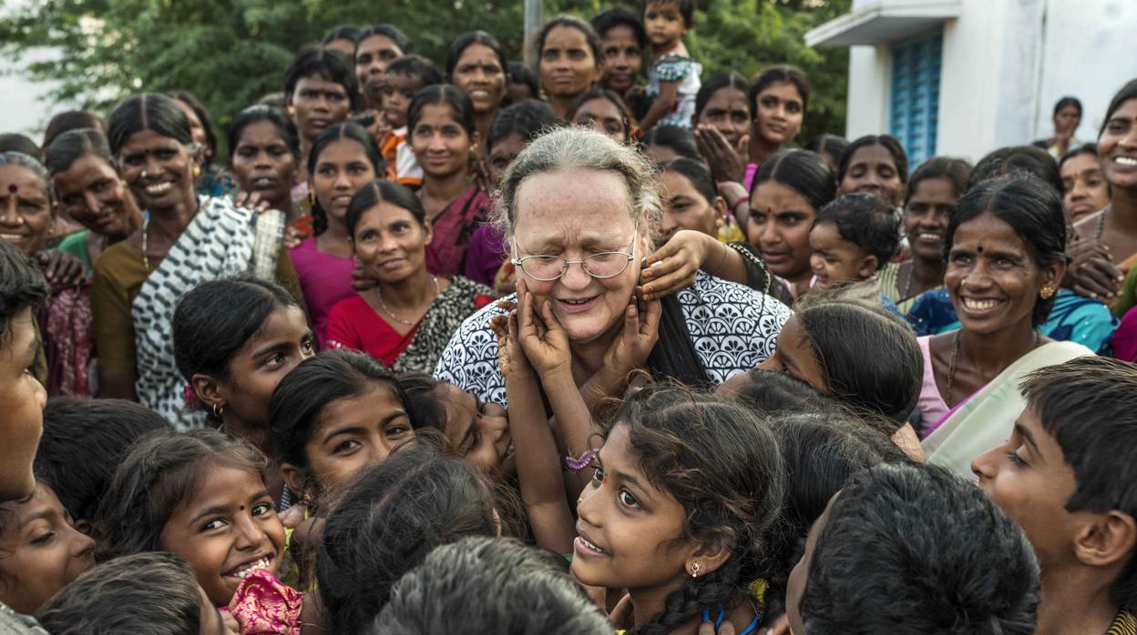
[[[516,295],[504,300],[516,301]],[[791,315],[786,304],[761,291],[702,271],[694,286],[679,292],[678,300],[695,350],[715,384],[773,354],[778,334]],[[466,318],[442,351],[434,377],[482,401],[505,406],[497,337],[489,327],[490,316],[504,314],[490,304]]]

